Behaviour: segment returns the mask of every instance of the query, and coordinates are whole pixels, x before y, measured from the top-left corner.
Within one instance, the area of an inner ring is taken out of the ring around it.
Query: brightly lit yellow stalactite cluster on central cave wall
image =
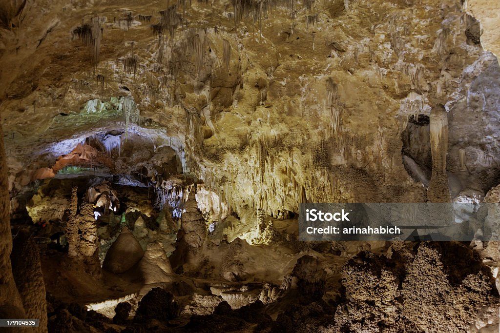
[[[239,212],[241,207],[248,207],[279,217],[282,212],[298,212],[299,202],[329,202],[340,198],[342,193],[344,196],[349,195],[338,182],[338,175],[325,166],[328,163],[328,148],[323,141],[319,150],[325,152],[324,156],[319,157],[321,161],[308,162],[307,172],[303,172],[302,167],[295,162],[301,158],[301,153],[277,152],[272,136],[259,135],[251,141],[253,158],[244,165],[225,163],[222,174],[231,177],[213,174],[208,169],[198,173],[204,187],[220,198],[229,214],[232,211]],[[311,148],[315,150],[319,147]]]

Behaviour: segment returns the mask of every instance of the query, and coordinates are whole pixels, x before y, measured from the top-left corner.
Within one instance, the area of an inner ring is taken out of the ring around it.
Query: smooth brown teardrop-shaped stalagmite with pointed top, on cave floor
[[[127,227],[109,248],[102,268],[111,273],[120,274],[131,269],[144,255],[144,250]]]

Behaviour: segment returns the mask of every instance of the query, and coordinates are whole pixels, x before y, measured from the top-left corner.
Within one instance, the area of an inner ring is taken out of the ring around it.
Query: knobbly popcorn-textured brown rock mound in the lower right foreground
[[[444,248],[422,243],[394,251],[389,261],[365,253],[348,263],[342,285],[349,302],[335,312],[336,332],[379,332],[380,325],[390,332],[469,330],[476,314],[497,307],[498,298],[487,272],[477,272],[480,264],[460,268],[470,250],[456,244],[445,258]],[[486,323],[497,323],[495,317]]]

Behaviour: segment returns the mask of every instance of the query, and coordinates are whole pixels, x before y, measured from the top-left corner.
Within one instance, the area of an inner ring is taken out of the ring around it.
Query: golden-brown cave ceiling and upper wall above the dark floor
[[[498,40],[495,4],[468,2],[6,1],[9,189],[119,135],[111,173],[137,175],[168,146],[236,210],[420,201],[410,176],[428,151],[411,145],[425,134],[401,134],[443,104],[452,193],[484,195],[500,162]]]

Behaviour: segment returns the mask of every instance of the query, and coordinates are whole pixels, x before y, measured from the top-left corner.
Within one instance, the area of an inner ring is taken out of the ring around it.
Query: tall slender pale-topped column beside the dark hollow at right
[[[446,154],[448,152],[448,114],[442,104],[430,110],[430,152],[432,155],[432,176],[427,198],[430,202],[450,202],[448,177],[446,175]]]

